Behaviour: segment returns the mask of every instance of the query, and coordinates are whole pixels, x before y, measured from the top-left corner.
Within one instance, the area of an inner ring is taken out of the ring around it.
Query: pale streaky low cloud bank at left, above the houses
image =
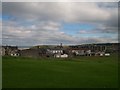
[[[56,27],[60,27],[60,24],[58,23],[42,22],[40,26],[38,26],[33,26],[33,28],[31,28],[18,26],[14,22],[4,22],[2,34],[3,44],[11,43],[13,45],[16,43],[18,45],[21,45],[21,42],[25,43],[25,45],[34,45],[34,43],[46,44],[51,42],[55,44],[60,42],[70,43],[74,41],[74,38],[71,36],[65,33],[61,33],[59,30],[54,30],[54,28],[56,29]],[[43,28],[44,26],[51,26],[53,29],[51,30],[48,28]]]

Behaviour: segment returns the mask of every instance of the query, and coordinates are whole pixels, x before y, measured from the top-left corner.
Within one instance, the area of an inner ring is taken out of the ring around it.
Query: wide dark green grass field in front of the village
[[[3,57],[3,88],[116,88],[117,56],[24,58]]]

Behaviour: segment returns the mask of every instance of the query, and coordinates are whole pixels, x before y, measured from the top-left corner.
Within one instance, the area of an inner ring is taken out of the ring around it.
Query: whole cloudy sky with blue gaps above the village
[[[2,2],[2,44],[118,42],[115,2]]]

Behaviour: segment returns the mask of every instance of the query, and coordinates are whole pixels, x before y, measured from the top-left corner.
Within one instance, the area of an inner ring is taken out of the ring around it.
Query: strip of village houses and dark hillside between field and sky
[[[22,56],[22,57],[55,57],[67,58],[75,56],[109,56],[111,53],[118,52],[119,47],[116,44],[85,44],[62,46],[40,47],[19,50],[17,46],[1,46],[0,55]]]

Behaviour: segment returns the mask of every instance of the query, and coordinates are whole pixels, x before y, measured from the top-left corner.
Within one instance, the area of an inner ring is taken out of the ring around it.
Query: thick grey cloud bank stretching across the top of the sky
[[[100,6],[101,5],[101,6]],[[4,2],[3,15],[12,15],[23,21],[66,21],[117,26],[116,3],[30,3]],[[14,20],[14,19],[13,19]]]

